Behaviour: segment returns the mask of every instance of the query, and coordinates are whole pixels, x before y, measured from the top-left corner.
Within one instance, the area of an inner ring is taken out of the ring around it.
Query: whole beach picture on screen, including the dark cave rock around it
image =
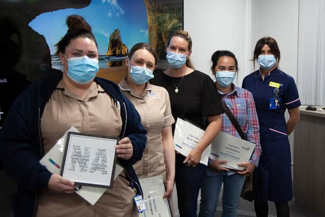
[[[83,16],[92,27],[99,76],[123,71],[125,56],[138,42],[150,43],[163,62],[169,34],[183,28],[183,0],[28,0],[1,6],[0,19],[10,20],[19,30],[21,52],[14,69],[29,81],[62,70],[55,44],[66,34],[71,14]]]

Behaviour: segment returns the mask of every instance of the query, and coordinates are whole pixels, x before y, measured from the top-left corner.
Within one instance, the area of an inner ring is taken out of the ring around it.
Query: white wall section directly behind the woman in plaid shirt
[[[247,71],[250,47],[250,0],[184,0],[184,29],[192,38],[196,69],[212,76],[211,56],[230,50],[239,62],[239,85]]]

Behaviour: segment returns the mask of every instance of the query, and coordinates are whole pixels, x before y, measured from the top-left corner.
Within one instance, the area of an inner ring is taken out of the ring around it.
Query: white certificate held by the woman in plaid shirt
[[[231,170],[243,171],[238,163],[248,162],[255,148],[255,144],[238,137],[219,131],[212,141],[210,158],[213,160],[226,160],[222,167]]]

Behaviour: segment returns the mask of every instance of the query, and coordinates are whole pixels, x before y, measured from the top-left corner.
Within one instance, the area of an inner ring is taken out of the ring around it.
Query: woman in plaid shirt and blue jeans
[[[212,74],[216,77],[216,87],[226,106],[233,113],[240,128],[246,135],[246,140],[256,144],[249,162],[238,164],[246,167],[243,172],[230,171],[222,167],[226,161],[209,159],[207,176],[201,188],[200,217],[213,217],[218,204],[221,185],[223,184],[222,216],[238,215],[240,193],[246,178],[258,165],[261,146],[259,145],[258,120],[252,94],[233,83],[238,63],[235,55],[227,50],[218,50],[211,57]],[[221,115],[221,131],[241,138],[228,116]]]

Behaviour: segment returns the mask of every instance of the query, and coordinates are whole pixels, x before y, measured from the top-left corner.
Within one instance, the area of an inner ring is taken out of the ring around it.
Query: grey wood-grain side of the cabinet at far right
[[[325,118],[301,114],[295,130],[294,197],[297,205],[325,213]]]

